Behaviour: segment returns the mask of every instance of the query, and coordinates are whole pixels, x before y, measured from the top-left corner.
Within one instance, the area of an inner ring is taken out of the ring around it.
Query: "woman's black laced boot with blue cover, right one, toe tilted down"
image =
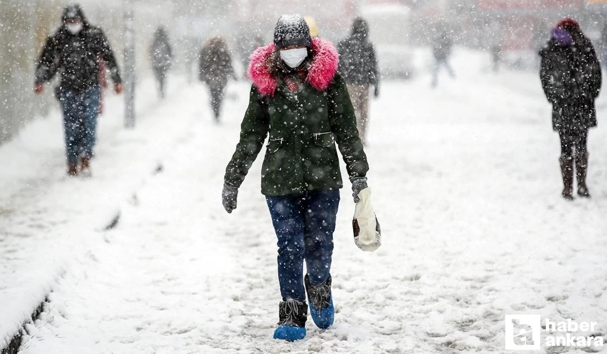
[[[310,302],[310,315],[318,328],[327,329],[333,325],[335,319],[335,307],[331,294],[331,276],[324,284],[314,286],[310,284],[310,277],[304,277],[305,291],[308,293]]]

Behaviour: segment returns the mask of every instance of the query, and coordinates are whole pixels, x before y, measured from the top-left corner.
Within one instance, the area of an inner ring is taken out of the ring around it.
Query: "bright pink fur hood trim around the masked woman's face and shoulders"
[[[308,69],[306,81],[314,89],[324,91],[335,77],[339,66],[339,54],[331,42],[320,38],[312,38],[312,51],[314,58]],[[273,96],[276,92],[277,80],[272,77],[267,65],[267,60],[273,52],[274,43],[260,47],[251,54],[251,63],[249,63],[249,78],[264,96]]]

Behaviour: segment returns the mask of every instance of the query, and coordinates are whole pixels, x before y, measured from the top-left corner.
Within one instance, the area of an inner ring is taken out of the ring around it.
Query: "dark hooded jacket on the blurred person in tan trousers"
[[[378,63],[373,44],[368,41],[367,22],[358,18],[352,24],[352,33],[339,44],[339,73],[348,84],[379,84]]]

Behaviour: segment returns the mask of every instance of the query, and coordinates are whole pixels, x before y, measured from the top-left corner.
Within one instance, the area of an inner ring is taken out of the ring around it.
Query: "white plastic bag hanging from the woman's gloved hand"
[[[381,246],[381,229],[371,208],[371,189],[362,189],[358,197],[361,200],[356,203],[352,220],[354,243],[363,251],[373,252]]]

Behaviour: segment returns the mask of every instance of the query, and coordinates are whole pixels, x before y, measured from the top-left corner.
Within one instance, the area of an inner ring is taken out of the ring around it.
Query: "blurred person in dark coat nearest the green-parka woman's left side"
[[[199,77],[211,94],[211,107],[215,121],[219,122],[223,96],[228,85],[228,78],[234,78],[234,67],[232,56],[229,53],[228,44],[220,37],[209,39],[200,52]]]

